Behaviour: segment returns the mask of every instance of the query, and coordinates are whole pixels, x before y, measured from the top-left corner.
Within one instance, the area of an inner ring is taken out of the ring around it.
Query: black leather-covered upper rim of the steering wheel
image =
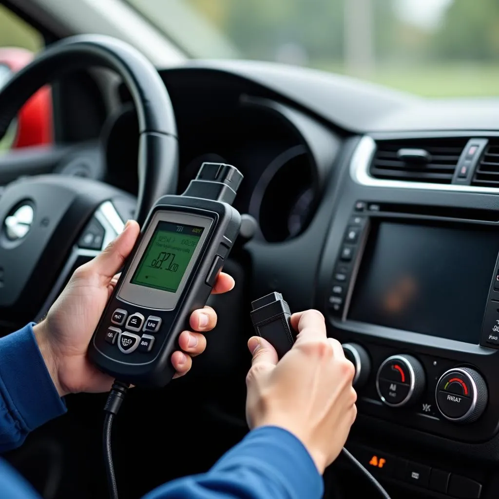
[[[56,42],[22,68],[0,90],[0,138],[26,100],[64,74],[91,66],[116,71],[137,110],[140,133],[136,219],[154,202],[176,192],[177,126],[172,102],[156,68],[137,49],[105,35],[77,35]]]

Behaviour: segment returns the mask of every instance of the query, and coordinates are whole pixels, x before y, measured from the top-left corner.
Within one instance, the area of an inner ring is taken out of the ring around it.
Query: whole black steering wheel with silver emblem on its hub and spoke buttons
[[[0,197],[1,328],[42,316],[75,266],[114,239],[126,218],[142,223],[156,199],[176,191],[177,127],[168,91],[139,51],[111,37],[66,38],[16,73],[0,91],[0,138],[41,86],[90,66],[118,73],[135,103],[138,198],[102,182],[55,174],[7,185]]]

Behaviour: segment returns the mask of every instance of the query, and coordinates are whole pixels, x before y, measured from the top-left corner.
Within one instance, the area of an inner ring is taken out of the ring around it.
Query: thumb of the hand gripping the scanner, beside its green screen
[[[111,241],[89,264],[97,274],[111,279],[125,263],[140,234],[139,224],[129,220],[114,241]]]

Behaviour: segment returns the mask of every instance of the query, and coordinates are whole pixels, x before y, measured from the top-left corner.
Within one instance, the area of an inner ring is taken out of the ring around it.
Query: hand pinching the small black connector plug
[[[326,337],[320,312],[293,314],[291,324],[299,334],[278,364],[268,341],[258,336],[248,341],[253,360],[246,418],[251,429],[270,425],[288,430],[322,474],[340,453],[357,415],[354,367],[340,343]]]

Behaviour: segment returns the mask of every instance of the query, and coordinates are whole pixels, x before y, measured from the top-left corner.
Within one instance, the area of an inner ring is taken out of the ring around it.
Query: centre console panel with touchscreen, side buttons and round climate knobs
[[[352,170],[358,161],[356,153],[340,186],[320,305],[356,368],[359,414],[488,442],[499,430],[496,196],[464,185],[367,185]]]

